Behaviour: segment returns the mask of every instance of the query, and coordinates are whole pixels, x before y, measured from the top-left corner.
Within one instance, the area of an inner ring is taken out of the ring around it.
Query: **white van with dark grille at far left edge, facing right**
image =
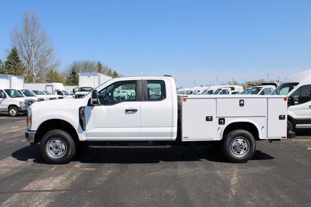
[[[25,98],[16,89],[0,89],[0,111],[8,112],[9,116],[26,113],[32,103],[33,98]]]

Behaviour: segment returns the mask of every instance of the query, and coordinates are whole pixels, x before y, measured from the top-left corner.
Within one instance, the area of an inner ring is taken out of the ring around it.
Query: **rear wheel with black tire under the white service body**
[[[255,152],[256,141],[250,132],[238,129],[225,135],[223,153],[230,161],[246,162],[254,156]]]

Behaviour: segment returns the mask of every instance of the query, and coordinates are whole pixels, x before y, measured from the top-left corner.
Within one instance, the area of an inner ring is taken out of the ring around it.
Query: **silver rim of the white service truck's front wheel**
[[[46,150],[52,158],[61,158],[67,151],[67,145],[61,138],[53,138],[47,143]]]

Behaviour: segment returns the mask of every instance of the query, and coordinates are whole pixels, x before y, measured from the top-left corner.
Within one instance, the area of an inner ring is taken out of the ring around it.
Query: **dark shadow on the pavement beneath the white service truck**
[[[12,157],[20,161],[33,161],[41,164],[49,164],[42,158],[39,145],[34,146],[34,150],[30,151],[30,147],[23,147],[12,154]],[[212,146],[173,146],[171,149],[104,149],[94,150],[87,147],[73,157],[71,161],[79,161],[81,163],[158,163],[178,162],[178,161],[203,161],[204,159],[212,162],[230,163],[222,155],[219,149]],[[256,150],[251,160],[274,159],[274,157]]]

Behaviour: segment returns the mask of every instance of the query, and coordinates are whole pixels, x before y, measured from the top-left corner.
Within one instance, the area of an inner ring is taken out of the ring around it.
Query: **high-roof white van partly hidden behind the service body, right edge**
[[[289,130],[311,128],[311,70],[292,75],[270,95],[287,95]]]

